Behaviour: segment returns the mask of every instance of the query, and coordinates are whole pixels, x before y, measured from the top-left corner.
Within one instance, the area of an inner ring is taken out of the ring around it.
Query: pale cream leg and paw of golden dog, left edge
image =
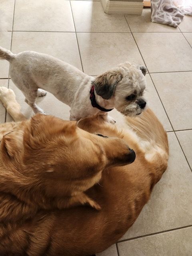
[[[16,122],[26,120],[26,117],[21,113],[20,104],[16,101],[13,90],[4,86],[0,87],[0,100]]]

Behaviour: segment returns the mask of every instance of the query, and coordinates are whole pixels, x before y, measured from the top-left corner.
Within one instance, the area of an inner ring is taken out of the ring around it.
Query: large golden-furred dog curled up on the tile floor
[[[10,90],[0,96],[4,105],[6,94],[10,94]],[[13,117],[19,112],[19,106],[10,110]],[[80,120],[77,126],[75,122],[41,115],[1,125],[1,136],[13,130],[4,136],[0,149],[1,256],[88,256],[105,250],[132,226],[167,168],[166,132],[150,109],[140,118],[127,118],[127,130],[118,130],[101,116]],[[82,143],[78,148],[73,146],[76,136]],[[69,159],[64,158],[70,170],[64,179],[60,166],[64,156],[63,137],[65,154],[70,155]],[[118,164],[124,164],[124,145],[127,144],[136,152],[136,160],[130,165],[112,167],[114,157]],[[86,153],[81,157],[80,146]],[[47,159],[48,152],[51,159],[58,157],[47,166],[51,160]],[[95,168],[99,166],[98,159],[102,177],[99,184],[92,186],[100,178],[96,177],[100,171]],[[24,169],[26,164],[28,168]],[[65,180],[79,175],[75,166],[86,179],[74,180],[74,188],[82,192],[92,186],[86,190],[86,196],[101,206],[100,211],[86,206],[58,209],[67,186]],[[85,166],[90,168],[87,170]],[[93,182],[89,183],[92,178]]]

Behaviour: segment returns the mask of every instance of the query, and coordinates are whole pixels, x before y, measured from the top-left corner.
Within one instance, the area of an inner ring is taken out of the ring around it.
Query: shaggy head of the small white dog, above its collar
[[[146,106],[146,68],[125,62],[98,76],[92,84],[96,93],[109,100],[125,116],[141,114]]]

